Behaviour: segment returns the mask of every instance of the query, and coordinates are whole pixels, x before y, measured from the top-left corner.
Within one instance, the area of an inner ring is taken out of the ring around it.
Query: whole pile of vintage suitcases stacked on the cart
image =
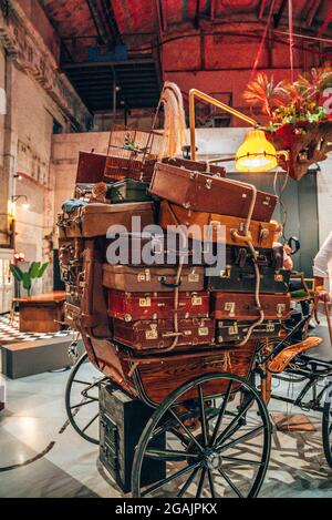
[[[270,220],[277,197],[253,193],[250,185],[226,179],[224,169],[204,162],[148,160],[137,172],[124,166],[110,170],[107,157],[101,154],[80,154],[74,198],[65,202],[58,222],[68,294],[65,317],[101,349],[106,348],[105,339],[116,345],[129,387],[134,387],[133,367],[126,356],[173,353],[163,370],[174,376],[177,387],[181,370],[185,374],[188,368],[186,353],[195,357],[206,350],[212,359],[214,350],[225,348],[235,367],[241,356],[252,356],[258,338],[283,334],[290,316],[289,272],[283,269],[282,247],[273,247]],[[141,217],[142,227],[157,224],[164,231],[172,226],[174,232],[174,226],[180,226],[174,251],[165,234],[137,235],[133,216]],[[113,224],[123,226],[120,236],[128,243],[128,262],[117,265],[106,259],[115,239],[107,236]],[[195,241],[206,238],[205,226],[212,230],[214,247],[220,225],[225,226],[226,265],[207,276],[206,265],[196,263],[190,248]],[[179,237],[186,235],[185,226],[194,227],[186,237],[188,262],[184,264]],[[169,253],[173,262],[132,263],[133,255],[142,258],[147,243],[165,258]],[[239,375],[248,373],[245,365]],[[214,371],[212,361],[206,370]],[[158,374],[157,361],[155,367],[142,365],[143,379],[158,378]],[[149,397],[160,402],[170,390],[169,384],[165,391],[155,385]]]

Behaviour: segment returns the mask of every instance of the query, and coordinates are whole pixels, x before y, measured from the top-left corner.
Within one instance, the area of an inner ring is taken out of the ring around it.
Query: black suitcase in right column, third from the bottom
[[[290,271],[274,271],[273,267],[260,266],[260,292],[266,294],[286,294],[289,292]],[[256,273],[253,265],[240,267],[227,265],[219,276],[209,276],[208,290],[221,293],[255,293]]]

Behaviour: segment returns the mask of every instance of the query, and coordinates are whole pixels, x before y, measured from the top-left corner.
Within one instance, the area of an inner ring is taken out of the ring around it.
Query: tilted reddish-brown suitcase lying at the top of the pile
[[[243,183],[164,163],[156,164],[151,192],[186,210],[242,218],[252,201],[252,190]],[[277,201],[276,195],[258,191],[252,220],[269,222]]]

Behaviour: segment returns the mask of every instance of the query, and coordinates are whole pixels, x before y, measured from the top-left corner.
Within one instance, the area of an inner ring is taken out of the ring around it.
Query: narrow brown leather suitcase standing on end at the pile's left
[[[96,338],[112,337],[107,316],[107,294],[103,287],[103,241],[85,242],[80,325],[87,335]]]

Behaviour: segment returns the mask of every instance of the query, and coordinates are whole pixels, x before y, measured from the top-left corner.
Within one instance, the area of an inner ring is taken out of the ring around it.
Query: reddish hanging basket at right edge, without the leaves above
[[[332,121],[319,123],[299,121],[295,124],[284,124],[274,132],[266,131],[267,139],[273,143],[277,151],[287,151],[288,160],[279,157],[279,165],[289,172],[295,181],[305,175],[309,167],[324,161],[332,151]]]

